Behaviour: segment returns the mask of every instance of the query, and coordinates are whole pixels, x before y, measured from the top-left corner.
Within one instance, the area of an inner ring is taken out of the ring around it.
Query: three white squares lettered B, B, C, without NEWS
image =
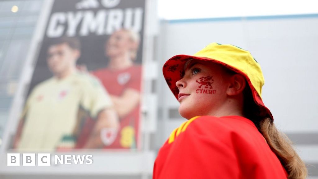
[[[35,166],[35,154],[22,154],[22,166]],[[7,154],[7,166],[20,166],[20,154]],[[38,154],[38,166],[51,166],[51,154]]]

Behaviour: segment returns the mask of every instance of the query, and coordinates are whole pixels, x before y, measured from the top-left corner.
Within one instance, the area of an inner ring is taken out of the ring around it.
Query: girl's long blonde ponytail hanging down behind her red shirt
[[[254,103],[249,86],[246,86],[243,95],[245,117],[253,121],[264,136],[267,144],[286,169],[288,179],[305,179],[307,168],[294,150],[291,140],[283,132],[280,132],[273,121],[262,112],[262,108]]]

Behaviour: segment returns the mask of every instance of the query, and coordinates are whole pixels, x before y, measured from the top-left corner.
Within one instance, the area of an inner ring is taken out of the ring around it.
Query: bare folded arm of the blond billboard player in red
[[[140,93],[136,89],[125,89],[120,97],[111,96],[119,118],[125,117],[139,104]]]

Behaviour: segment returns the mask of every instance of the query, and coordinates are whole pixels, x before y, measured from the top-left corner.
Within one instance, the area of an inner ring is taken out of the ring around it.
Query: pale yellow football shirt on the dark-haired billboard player
[[[52,151],[63,136],[71,136],[78,116],[86,112],[97,118],[112,106],[100,82],[87,73],[76,72],[64,79],[52,77],[38,84],[25,104],[18,150]]]

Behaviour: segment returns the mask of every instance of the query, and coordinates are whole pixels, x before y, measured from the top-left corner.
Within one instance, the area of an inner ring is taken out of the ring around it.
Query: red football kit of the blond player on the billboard
[[[104,68],[93,72],[93,75],[100,79],[105,89],[110,95],[121,96],[126,89],[141,91],[140,65],[135,65],[122,70],[112,70]],[[136,148],[139,133],[140,104],[128,115],[120,119],[120,129],[112,144],[105,146],[107,149]],[[107,134],[105,134],[107,135]]]

